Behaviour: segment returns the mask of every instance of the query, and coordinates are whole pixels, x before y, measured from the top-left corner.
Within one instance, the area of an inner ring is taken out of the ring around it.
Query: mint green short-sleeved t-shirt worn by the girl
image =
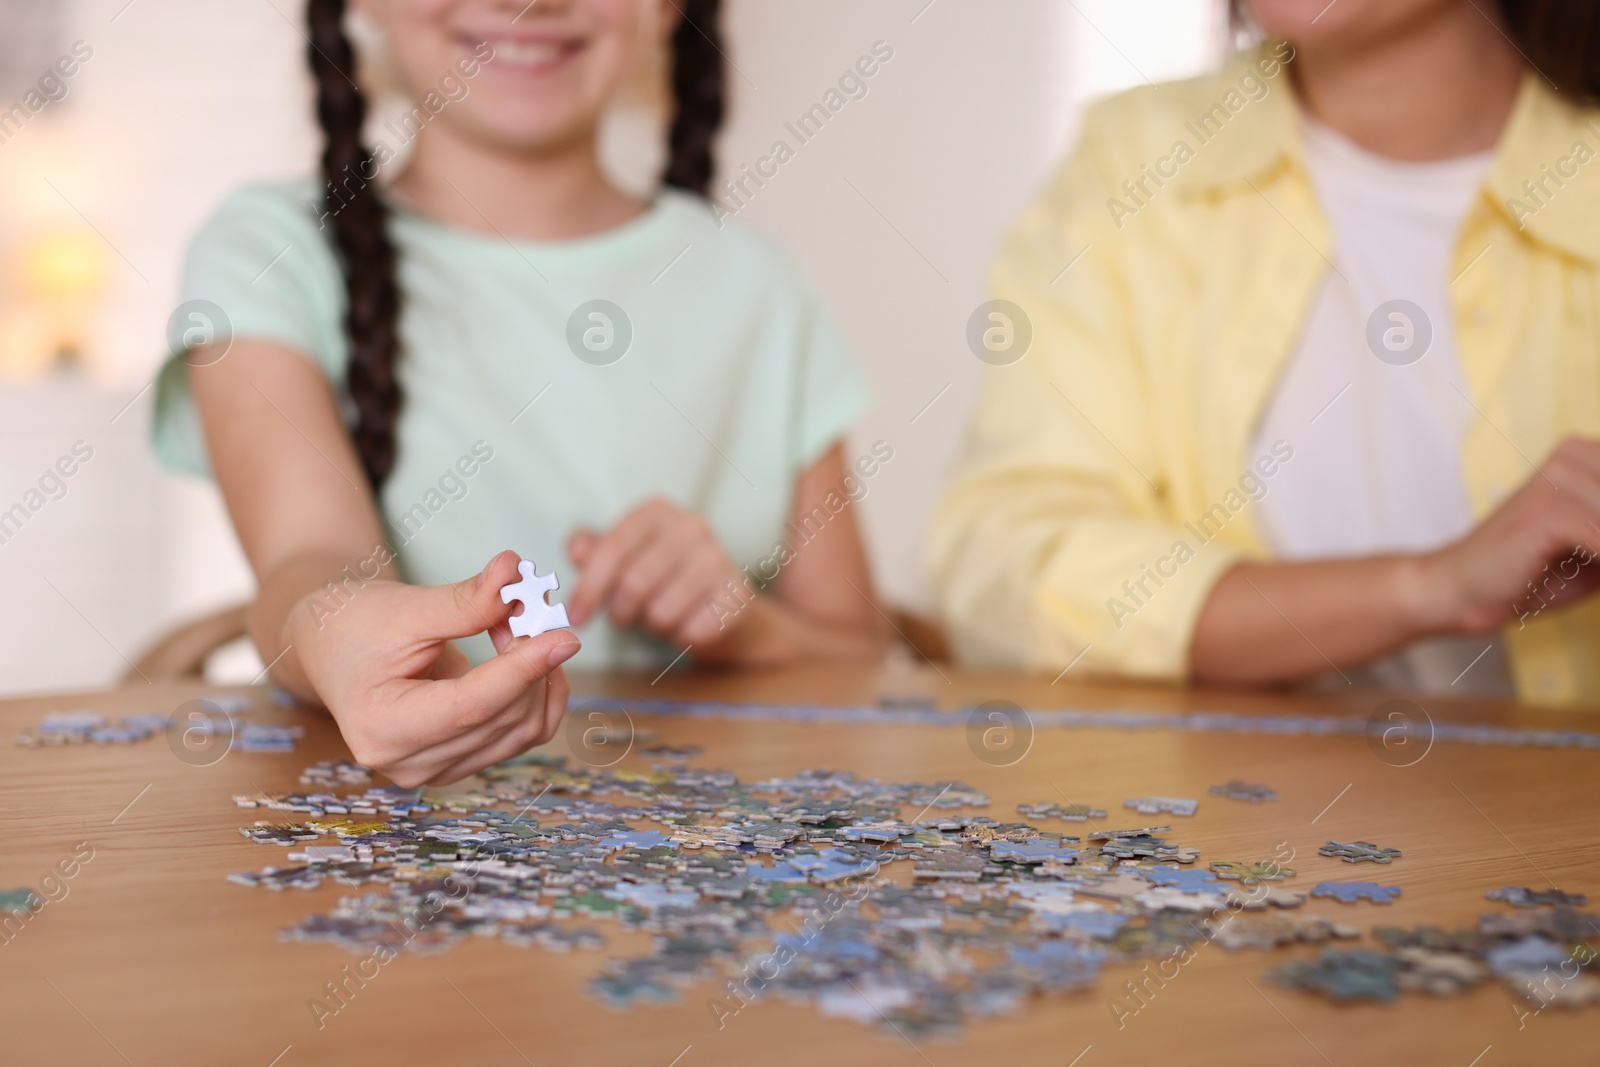
[[[182,298],[219,306],[234,338],[302,352],[344,400],[346,290],[317,194],[310,181],[232,194],[189,246]],[[459,581],[515,549],[555,568],[560,603],[578,581],[573,530],[606,530],[651,496],[704,515],[754,568],[784,539],[797,475],[869,406],[789,256],[686,194],[570,242],[406,211],[390,232],[405,406],[381,514],[406,581]],[[176,354],[162,368],[154,445],[170,467],[205,475],[186,371]],[[578,667],[682,651],[603,617],[579,635]],[[483,635],[466,645],[493,654]]]

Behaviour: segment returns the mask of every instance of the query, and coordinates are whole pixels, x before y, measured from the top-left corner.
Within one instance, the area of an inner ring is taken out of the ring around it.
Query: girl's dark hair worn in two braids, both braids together
[[[672,128],[662,181],[707,195],[712,142],[725,112],[725,72],[717,27],[722,0],[674,0]],[[389,208],[378,189],[378,163],[362,142],[366,98],[355,85],[355,48],[344,29],[346,0],[309,0],[309,48],[323,133],[325,218],[344,274],[349,366],[346,390],[355,413],[350,435],[373,491],[395,466],[400,392],[400,283]]]

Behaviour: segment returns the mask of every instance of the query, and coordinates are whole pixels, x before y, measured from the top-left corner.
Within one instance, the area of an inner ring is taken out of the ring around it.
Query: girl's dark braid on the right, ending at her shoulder
[[[715,171],[712,141],[722,126],[726,78],[717,14],[722,0],[677,0],[678,27],[672,32],[672,131],[664,181],[706,195]]]

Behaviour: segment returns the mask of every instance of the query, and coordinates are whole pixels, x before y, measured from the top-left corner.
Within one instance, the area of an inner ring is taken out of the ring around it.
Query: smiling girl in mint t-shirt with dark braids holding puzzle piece
[[[544,742],[579,643],[510,637],[509,545],[576,568],[594,665],[878,654],[854,515],[786,536],[846,482],[867,395],[789,259],[702,198],[715,0],[357,6],[416,107],[363,142],[346,5],[312,0],[322,181],[245,187],[195,237],[186,298],[230,331],[157,395],[160,454],[221,485],[277,681],[400,784]],[[645,203],[597,138],[669,38]]]

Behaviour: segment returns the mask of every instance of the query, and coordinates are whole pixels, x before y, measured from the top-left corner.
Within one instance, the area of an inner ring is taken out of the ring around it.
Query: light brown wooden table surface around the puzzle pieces
[[[1410,766],[1379,758],[1363,737],[1042,728],[1013,766],[968,749],[954,713],[989,699],[1026,707],[1235,710],[1246,715],[1368,717],[1381,694],[1338,697],[1162,688],[1048,685],[1045,680],[930,669],[813,667],[768,673],[682,673],[650,678],[576,677],[579,693],[630,699],[874,704],[926,697],[952,725],[824,725],[696,720],[635,713],[640,731],[704,749],[698,763],[744,781],[803,768],[885,781],[960,779],[992,797],[989,814],[1059,800],[1120,808],[1146,793],[1202,798],[1168,837],[1213,859],[1261,859],[1294,849],[1294,885],[1379,880],[1403,888],[1389,905],[1315,901],[1302,912],[1360,925],[1474,925],[1504,905],[1499,885],[1600,896],[1600,752],[1494,747],[1438,741]],[[170,712],[198,685],[133,686],[0,702],[0,739],[51,710]],[[1434,721],[1600,731],[1600,717],[1502,704],[1426,702]],[[702,1064],[1008,1062],[1101,1064],[1453,1064],[1595,1062],[1600,1009],[1531,1005],[1499,982],[1395,1005],[1342,1006],[1293,993],[1262,974],[1314,949],[1229,953],[1202,945],[1134,1016],[1123,982],[1133,965],[1109,965],[1096,985],[1029,1001],[1022,1011],[970,1025],[958,1040],[896,1038],[810,1006],[757,1000],[718,1029],[704,982],[670,1006],[618,1013],[582,992],[606,952],[550,953],[475,939],[440,955],[402,955],[318,1029],[307,1001],[357,960],[333,945],[286,944],[277,931],[326,912],[347,886],[270,893],[226,881],[237,870],[283,862],[238,835],[262,817],[234,793],[294,790],[315,760],[347,757],[331,721],[270,709],[256,721],[293,721],[306,739],[293,755],[229,752],[211,766],[178,760],[163,737],[134,745],[22,749],[0,744],[0,888],[38,889],[42,875],[82,843],[93,859],[0,947],[0,1059],[14,1064]],[[550,744],[565,752],[565,741]],[[632,758],[632,757],[630,757]],[[624,763],[624,766],[627,766]],[[1278,800],[1206,798],[1242,777]],[[1058,792],[1058,789],[1061,792]],[[1131,814],[1131,813],[1130,813]],[[1168,819],[1162,819],[1163,822]],[[1350,867],[1317,856],[1328,838],[1402,848],[1389,867]],[[896,864],[899,867],[899,864]],[[600,923],[611,944],[629,937]],[[643,944],[642,941],[638,942]],[[1360,942],[1371,944],[1370,936]],[[1086,1051],[1085,1051],[1086,1049]],[[1075,1059],[1077,1057],[1077,1059]]]

